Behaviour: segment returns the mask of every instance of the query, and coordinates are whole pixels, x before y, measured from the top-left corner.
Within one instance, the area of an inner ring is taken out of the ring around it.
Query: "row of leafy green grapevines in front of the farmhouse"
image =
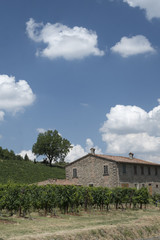
[[[156,203],[159,196],[152,197]],[[109,211],[110,206],[118,208],[142,209],[150,202],[147,188],[102,188],[58,185],[19,185],[0,186],[0,211],[12,216],[26,216],[32,212],[43,212],[54,216],[61,213],[78,213],[94,208]]]

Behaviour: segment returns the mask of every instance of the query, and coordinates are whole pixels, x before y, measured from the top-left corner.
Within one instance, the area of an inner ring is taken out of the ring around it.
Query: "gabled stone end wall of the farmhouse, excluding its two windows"
[[[104,166],[108,166],[108,175],[104,176]],[[77,178],[73,178],[73,169],[77,169]],[[83,186],[116,187],[118,185],[117,164],[89,154],[66,167],[66,179]]]

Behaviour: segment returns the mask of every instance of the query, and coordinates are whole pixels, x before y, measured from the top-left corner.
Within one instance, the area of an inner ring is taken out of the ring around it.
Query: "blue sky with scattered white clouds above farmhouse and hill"
[[[0,145],[39,132],[160,162],[159,0],[1,0]]]

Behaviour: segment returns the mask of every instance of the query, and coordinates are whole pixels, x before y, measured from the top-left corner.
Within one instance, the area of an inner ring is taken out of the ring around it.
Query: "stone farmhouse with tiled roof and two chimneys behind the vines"
[[[148,187],[160,193],[160,164],[129,157],[91,153],[66,166],[66,180],[75,185],[103,187]]]

